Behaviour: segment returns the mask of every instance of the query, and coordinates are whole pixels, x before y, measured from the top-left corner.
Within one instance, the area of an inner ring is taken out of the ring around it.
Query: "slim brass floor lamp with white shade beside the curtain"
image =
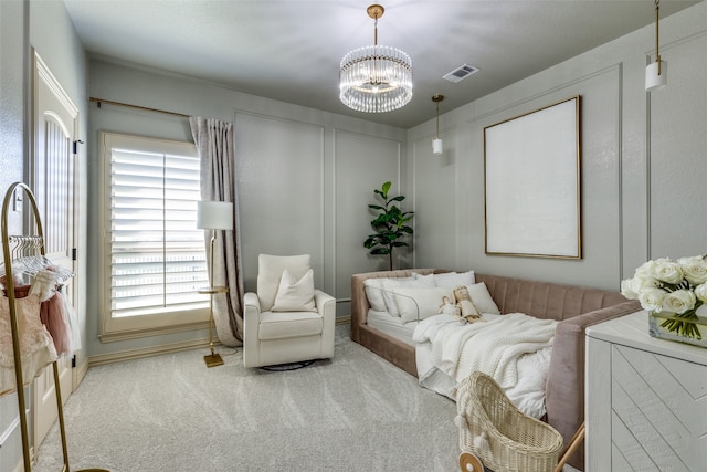
[[[228,286],[215,285],[213,280],[213,249],[217,242],[217,230],[233,229],[233,203],[229,201],[199,201],[197,203],[197,228],[211,230],[211,250],[209,252],[209,286],[199,293],[209,295],[209,348],[211,354],[203,356],[207,367],[222,366],[223,359],[213,350],[213,295],[226,293]]]

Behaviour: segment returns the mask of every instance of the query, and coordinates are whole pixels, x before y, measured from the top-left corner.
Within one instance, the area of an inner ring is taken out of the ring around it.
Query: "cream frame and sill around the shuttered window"
[[[167,140],[145,136],[99,132],[101,160],[101,255],[99,255],[99,306],[101,323],[98,338],[104,342],[134,339],[170,333],[203,329],[209,327],[209,297],[198,295],[194,304],[184,310],[156,310],[148,315],[113,317],[112,308],[112,151],[113,148],[136,149],[146,153],[172,154],[198,157],[197,146],[189,141]],[[205,253],[205,248],[204,248]],[[201,301],[199,300],[201,297]],[[161,313],[160,313],[161,312]]]

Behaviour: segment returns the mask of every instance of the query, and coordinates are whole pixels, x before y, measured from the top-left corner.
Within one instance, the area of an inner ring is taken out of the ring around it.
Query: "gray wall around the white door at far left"
[[[54,76],[60,81],[68,96],[80,111],[80,137],[85,135],[85,54],[78,42],[73,24],[62,2],[56,1],[0,1],[0,190],[4,197],[6,189],[14,181],[28,181],[25,162],[29,159],[31,139],[31,77],[32,49],[42,56]],[[86,214],[85,201],[85,153],[78,155],[82,169],[80,190],[82,214]],[[85,221],[85,219],[84,219]],[[9,219],[11,233],[22,231],[19,213],[11,213]],[[85,253],[86,227],[80,228],[80,253]],[[81,261],[85,268],[85,261]],[[85,326],[85,285],[80,269],[76,277],[80,284],[77,312],[80,322]],[[85,329],[84,329],[85,332]],[[85,343],[84,343],[85,345]],[[86,361],[86,350],[77,354],[78,364]],[[29,389],[28,394],[29,394]],[[30,398],[29,396],[25,396]],[[0,398],[0,437],[8,434],[0,444],[0,470],[14,470],[22,461],[19,427],[7,428],[17,418],[17,396]]]

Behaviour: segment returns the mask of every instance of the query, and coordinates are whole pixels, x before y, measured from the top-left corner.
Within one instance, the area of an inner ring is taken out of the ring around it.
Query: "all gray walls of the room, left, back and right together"
[[[97,109],[86,101],[93,95],[235,123],[246,289],[254,287],[258,252],[306,251],[314,258],[317,285],[338,298],[340,314],[348,314],[350,274],[386,266],[384,258],[369,256],[361,242],[369,232],[366,206],[372,189],[389,179],[416,212],[415,252],[402,265],[472,268],[618,289],[646,259],[706,251],[707,208],[700,204],[707,177],[706,24],[705,2],[661,21],[667,88],[643,90],[654,41],[653,28],[646,27],[444,114],[440,159],[430,150],[433,122],[409,130],[384,127],[102,61],[91,64],[86,81],[84,53],[61,2],[0,1],[0,186],[23,177],[31,45],[87,126],[80,154],[85,281],[97,280],[97,239],[88,239],[87,228],[97,227],[98,130],[191,139],[183,119],[107,105]],[[576,94],[582,95],[584,258],[486,256],[484,126]],[[304,189],[296,197],[293,175]],[[91,356],[204,336],[102,344],[96,290],[97,283],[83,286],[86,296],[80,302],[85,304],[80,310],[86,319],[84,353]],[[14,408],[11,397],[0,399],[0,430]],[[0,449],[2,470],[19,458],[13,438]]]

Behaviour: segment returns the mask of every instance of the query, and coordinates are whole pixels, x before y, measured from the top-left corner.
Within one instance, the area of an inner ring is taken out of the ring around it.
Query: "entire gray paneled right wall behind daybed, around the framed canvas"
[[[648,94],[654,34],[646,27],[443,115],[441,158],[433,120],[410,129],[415,265],[618,290],[647,259],[705,253],[707,2],[661,20],[668,86]],[[484,127],[573,95],[582,97],[583,259],[486,255]]]

